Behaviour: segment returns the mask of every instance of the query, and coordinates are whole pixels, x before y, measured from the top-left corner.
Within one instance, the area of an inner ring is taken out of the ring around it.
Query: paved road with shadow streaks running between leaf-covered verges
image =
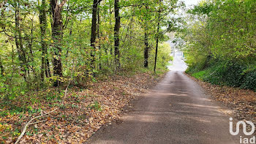
[[[184,75],[187,68],[176,54],[170,72],[151,92],[135,102],[121,124],[99,130],[89,143],[231,144],[229,117],[203,88]]]

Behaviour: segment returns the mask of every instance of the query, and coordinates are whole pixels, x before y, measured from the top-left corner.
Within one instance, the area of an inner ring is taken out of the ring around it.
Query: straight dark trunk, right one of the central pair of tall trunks
[[[114,28],[114,39],[115,39],[115,66],[116,69],[120,68],[120,52],[119,52],[119,45],[120,45],[120,39],[119,39],[119,31],[120,31],[120,22],[121,18],[119,15],[119,0],[115,0],[115,28]]]

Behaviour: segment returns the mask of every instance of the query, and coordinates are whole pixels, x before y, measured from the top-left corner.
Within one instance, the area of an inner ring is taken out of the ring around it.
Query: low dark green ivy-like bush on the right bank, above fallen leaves
[[[256,91],[256,69],[249,69],[249,66],[232,61],[207,63],[205,69],[198,69],[198,65],[189,66],[187,73],[208,83]]]

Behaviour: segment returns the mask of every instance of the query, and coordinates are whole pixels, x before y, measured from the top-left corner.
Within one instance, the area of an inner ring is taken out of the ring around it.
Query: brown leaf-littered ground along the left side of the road
[[[115,75],[108,80],[91,83],[88,88],[70,89],[64,102],[58,99],[37,102],[31,109],[38,112],[1,115],[0,141],[14,143],[29,119],[58,107],[50,115],[34,121],[46,120],[29,126],[20,143],[83,143],[103,125],[118,121],[124,113],[123,107],[146,93],[163,76],[156,77],[148,72]],[[3,107],[0,112],[4,110]]]

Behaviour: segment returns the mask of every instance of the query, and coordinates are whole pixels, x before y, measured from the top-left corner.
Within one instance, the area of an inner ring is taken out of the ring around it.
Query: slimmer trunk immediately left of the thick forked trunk
[[[41,29],[41,51],[42,51],[42,60],[41,60],[41,83],[45,80],[45,75],[47,75],[46,70],[46,56],[47,56],[47,44],[46,44],[46,28],[47,28],[47,20],[46,20],[46,2],[42,0],[42,4],[40,7],[39,13],[39,22],[40,22],[40,29]]]

